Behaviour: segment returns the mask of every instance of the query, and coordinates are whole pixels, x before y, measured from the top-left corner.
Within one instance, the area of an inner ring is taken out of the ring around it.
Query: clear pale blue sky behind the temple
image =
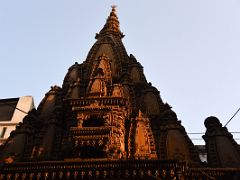
[[[61,86],[113,4],[128,54],[187,132],[205,132],[211,115],[225,124],[240,107],[239,0],[2,0],[0,98],[32,95],[38,105]],[[228,129],[240,131],[240,113]]]

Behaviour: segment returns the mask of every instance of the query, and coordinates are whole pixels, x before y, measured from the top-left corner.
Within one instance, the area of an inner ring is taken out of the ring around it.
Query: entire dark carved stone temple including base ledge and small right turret
[[[208,117],[202,162],[123,37],[112,7],[86,60],[0,146],[0,179],[240,178],[233,136]]]

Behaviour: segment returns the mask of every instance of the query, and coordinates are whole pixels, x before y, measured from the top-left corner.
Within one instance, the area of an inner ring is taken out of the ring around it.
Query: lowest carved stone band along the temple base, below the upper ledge
[[[174,169],[125,169],[125,170],[59,170],[31,173],[0,174],[0,179],[85,179],[85,178],[167,178],[176,179],[181,174]]]

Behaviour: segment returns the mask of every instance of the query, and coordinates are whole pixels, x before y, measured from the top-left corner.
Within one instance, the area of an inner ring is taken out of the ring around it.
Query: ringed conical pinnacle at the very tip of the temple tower
[[[117,6],[115,6],[115,5],[112,6],[112,11],[110,12],[110,15],[108,16],[104,27],[102,28],[100,33],[96,35],[96,38],[107,35],[107,34],[118,35],[121,38],[124,37],[124,35],[120,31],[119,21],[118,21],[118,17],[116,14],[116,7]]]

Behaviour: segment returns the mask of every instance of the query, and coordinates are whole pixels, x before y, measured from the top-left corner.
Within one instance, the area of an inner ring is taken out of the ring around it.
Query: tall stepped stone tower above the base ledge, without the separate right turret
[[[46,94],[10,139],[1,158],[200,160],[176,114],[148,83],[143,67],[122,43],[115,7],[82,64]],[[173,143],[174,142],[174,143]],[[14,148],[11,148],[14,147]]]

